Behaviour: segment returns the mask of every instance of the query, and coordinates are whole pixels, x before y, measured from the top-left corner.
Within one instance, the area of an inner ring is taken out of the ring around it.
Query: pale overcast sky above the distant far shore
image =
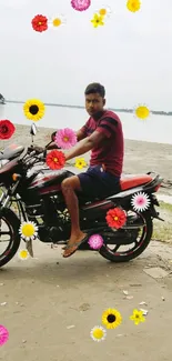
[[[82,106],[87,84],[99,81],[109,107],[172,110],[172,0],[143,0],[136,13],[125,2],[92,0],[79,12],[70,0],[0,0],[0,92]],[[94,29],[90,20],[104,4],[113,13]],[[38,33],[38,13],[67,23]]]

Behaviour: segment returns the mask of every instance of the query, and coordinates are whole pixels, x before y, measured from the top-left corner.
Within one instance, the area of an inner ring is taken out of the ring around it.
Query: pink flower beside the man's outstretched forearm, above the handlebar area
[[[72,129],[64,128],[57,131],[54,141],[59,148],[70,149],[75,146],[77,136]]]

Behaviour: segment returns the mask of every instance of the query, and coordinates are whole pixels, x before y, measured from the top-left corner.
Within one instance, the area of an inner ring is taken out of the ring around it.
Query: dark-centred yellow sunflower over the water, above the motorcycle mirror
[[[44,116],[44,104],[38,99],[29,99],[23,106],[24,116],[33,121],[38,121]]]

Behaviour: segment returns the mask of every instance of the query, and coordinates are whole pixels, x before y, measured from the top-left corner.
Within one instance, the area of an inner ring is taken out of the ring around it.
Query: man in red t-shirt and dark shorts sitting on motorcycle
[[[105,90],[100,83],[91,83],[84,91],[85,110],[90,118],[77,132],[78,143],[65,153],[65,161],[91,150],[90,167],[85,172],[67,178],[61,190],[71,217],[71,237],[63,257],[72,255],[88,239],[79,224],[78,192],[89,197],[108,197],[120,191],[123,167],[123,131],[119,117],[104,109]],[[54,133],[52,133],[52,137]],[[58,148],[55,143],[48,149]]]

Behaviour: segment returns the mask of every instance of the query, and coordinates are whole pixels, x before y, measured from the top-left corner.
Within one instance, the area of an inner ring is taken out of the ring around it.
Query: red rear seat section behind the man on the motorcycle
[[[149,174],[138,174],[131,177],[123,177],[120,180],[121,191],[125,191],[128,189],[132,189],[139,185],[143,185],[152,181],[152,177]]]

